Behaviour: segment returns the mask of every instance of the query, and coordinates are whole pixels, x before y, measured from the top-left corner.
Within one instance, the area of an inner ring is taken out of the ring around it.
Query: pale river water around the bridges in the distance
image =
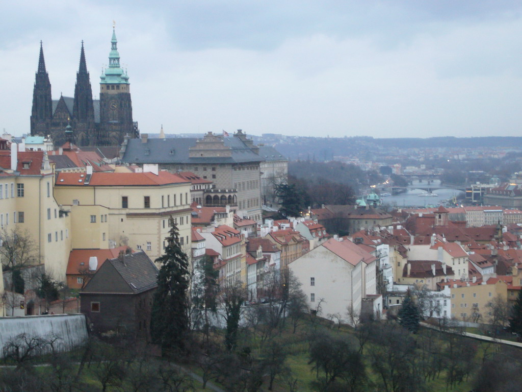
[[[414,181],[410,187],[415,187],[416,185],[428,186],[427,181]],[[433,180],[430,184],[433,187],[439,187],[441,185],[440,180]],[[385,190],[386,191],[386,190]],[[385,192],[383,191],[383,192]],[[383,204],[397,206],[397,207],[430,207],[430,206],[438,206],[440,204],[446,204],[448,199],[452,199],[454,196],[459,196],[464,194],[464,192],[456,190],[456,189],[434,189],[432,193],[437,194],[437,196],[432,197],[423,197],[419,196],[419,193],[426,192],[423,189],[408,189],[405,193],[399,193],[392,196],[384,196],[382,197]]]

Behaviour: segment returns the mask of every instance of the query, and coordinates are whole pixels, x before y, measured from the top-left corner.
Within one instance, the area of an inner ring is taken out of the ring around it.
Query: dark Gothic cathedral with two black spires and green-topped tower
[[[115,146],[124,136],[138,137],[138,123],[132,118],[131,85],[120,67],[116,33],[113,29],[109,67],[100,76],[100,99],[92,99],[91,82],[81,43],[80,66],[73,97],[51,98],[51,82],[45,69],[43,46],[33,89],[31,135],[50,135],[55,145],[66,142],[70,125],[78,146]]]

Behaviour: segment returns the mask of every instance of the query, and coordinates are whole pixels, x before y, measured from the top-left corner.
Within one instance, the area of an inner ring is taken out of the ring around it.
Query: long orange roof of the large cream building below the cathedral
[[[174,183],[185,183],[186,180],[167,171],[160,171],[158,175],[145,173],[114,173],[93,172],[86,183],[85,173],[60,172],[56,177],[56,186],[90,186],[90,187],[143,187],[160,186]]]

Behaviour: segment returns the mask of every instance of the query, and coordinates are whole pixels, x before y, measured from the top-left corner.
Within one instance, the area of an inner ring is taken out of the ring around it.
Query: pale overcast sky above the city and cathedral
[[[504,0],[3,2],[0,130],[27,133],[40,40],[53,99],[93,95],[112,20],[143,133],[519,136],[522,6]]]

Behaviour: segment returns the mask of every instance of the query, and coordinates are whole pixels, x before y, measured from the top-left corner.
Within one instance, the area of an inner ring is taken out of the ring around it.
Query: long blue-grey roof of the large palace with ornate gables
[[[176,137],[167,139],[148,139],[146,143],[140,139],[129,139],[122,161],[125,163],[246,163],[263,162],[264,157],[256,154],[239,137],[223,137],[224,145],[232,149],[231,157],[195,157],[189,158],[189,147],[196,145],[193,137]],[[148,154],[146,154],[148,151]],[[171,152],[173,152],[171,154]]]

